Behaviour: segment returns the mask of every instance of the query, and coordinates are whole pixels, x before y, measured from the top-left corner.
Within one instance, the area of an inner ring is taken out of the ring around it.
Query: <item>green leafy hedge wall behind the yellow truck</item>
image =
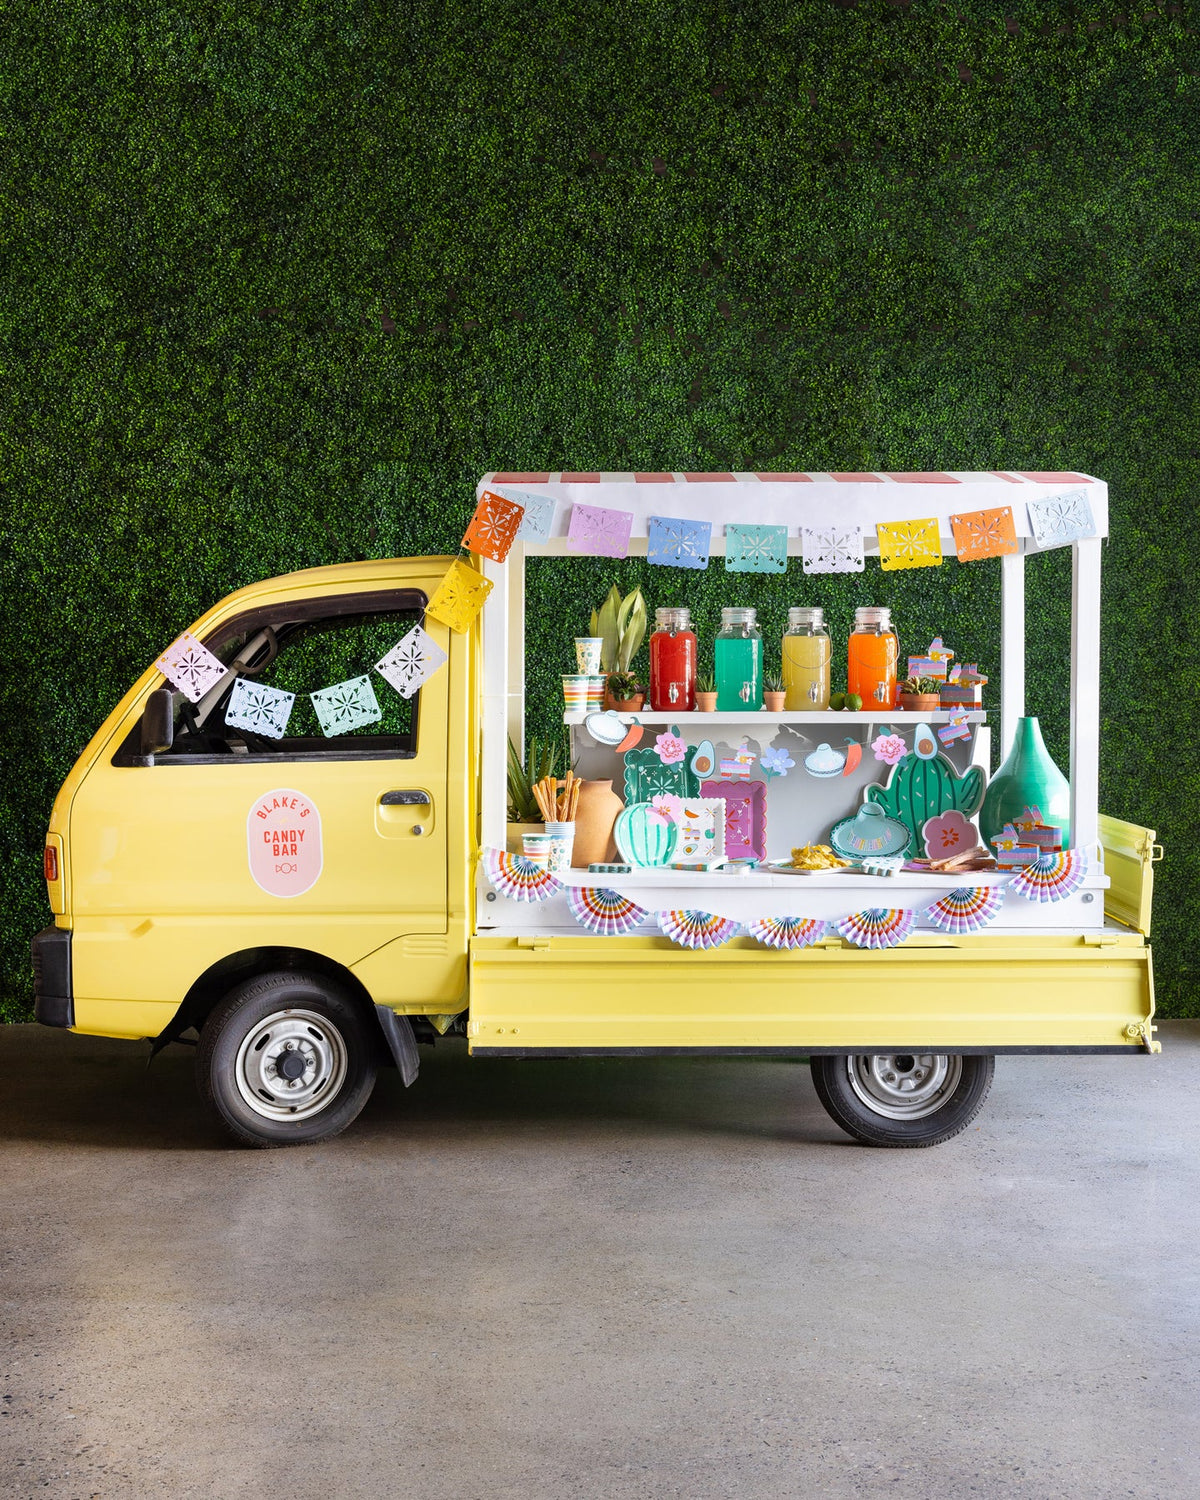
[[[248,579],[453,549],[501,466],[1107,478],[1102,801],[1161,830],[1162,1010],[1197,1014],[1192,22],[12,0],[4,1016],[28,1014],[54,790],[134,675]],[[711,626],[720,568],[654,572],[651,603]],[[1068,568],[1030,572],[1030,710],[1062,760]],[[602,586],[536,578],[552,694]],[[891,580],[902,644],[940,628],[994,663],[996,588],[956,562]],[[759,597],[774,630],[788,598]]]

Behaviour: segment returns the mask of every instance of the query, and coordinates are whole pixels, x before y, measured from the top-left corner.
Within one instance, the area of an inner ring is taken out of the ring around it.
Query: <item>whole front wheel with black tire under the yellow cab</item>
[[[261,974],[204,1022],[196,1086],[238,1144],[302,1146],[351,1124],[375,1088],[376,1056],[366,1017],[336,984]]]

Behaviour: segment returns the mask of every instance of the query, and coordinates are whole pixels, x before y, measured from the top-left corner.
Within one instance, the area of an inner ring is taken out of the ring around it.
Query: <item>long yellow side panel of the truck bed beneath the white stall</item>
[[[476,938],[471,1048],[1137,1048],[1152,1038],[1150,951],[1094,938],[918,934],[872,952],[774,952],[740,938]]]

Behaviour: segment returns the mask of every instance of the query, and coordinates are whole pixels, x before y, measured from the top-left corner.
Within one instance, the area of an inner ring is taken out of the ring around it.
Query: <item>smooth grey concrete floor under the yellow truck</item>
[[[1200,1494],[1200,1023],[933,1150],[786,1062],[422,1050],[226,1149],[190,1053],[0,1030],[4,1497]]]

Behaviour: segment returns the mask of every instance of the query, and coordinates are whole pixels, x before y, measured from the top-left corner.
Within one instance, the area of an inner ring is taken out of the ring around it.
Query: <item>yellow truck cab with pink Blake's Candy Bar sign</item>
[[[272,1030],[260,1024],[230,1100],[255,1134],[288,1140],[306,1138],[303,1122],[327,1132],[326,1098],[345,1090],[352,1050],[370,1077],[393,1050],[411,1071],[406,1018],[466,1005],[477,638],[428,621],[447,669],[411,698],[381,692],[378,723],[332,738],[306,690],[370,672],[423,618],[447,562],[346,564],[240,590],[192,627],[226,666],[195,705],[158,669],[142,674],[54,802],[40,1022],[172,1038],[248,986],[284,996],[303,981],[310,1016],[332,998],[346,1035],[326,1017],[310,1022],[322,1038],[276,1036],[255,1053]],[[237,678],[297,694],[280,738],[225,723]],[[279,1072],[292,1056],[306,1060],[297,1078]]]

